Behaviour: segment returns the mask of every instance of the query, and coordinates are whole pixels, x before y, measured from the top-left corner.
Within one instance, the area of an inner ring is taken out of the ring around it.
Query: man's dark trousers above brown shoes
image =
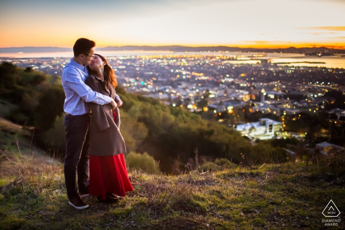
[[[66,156],[65,182],[69,199],[79,196],[76,185],[78,175],[79,193],[89,193],[89,113],[79,116],[65,115]]]

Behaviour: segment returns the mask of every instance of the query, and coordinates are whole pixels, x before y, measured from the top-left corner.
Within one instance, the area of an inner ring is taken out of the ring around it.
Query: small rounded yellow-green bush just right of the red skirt
[[[130,152],[127,155],[127,164],[129,170],[133,170],[133,168],[135,168],[136,170],[141,169],[147,173],[160,173],[157,162],[155,162],[153,157],[149,156],[146,152],[143,154]]]

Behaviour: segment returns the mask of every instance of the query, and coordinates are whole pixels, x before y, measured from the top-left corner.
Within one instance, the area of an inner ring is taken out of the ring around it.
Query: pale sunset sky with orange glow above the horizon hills
[[[0,0],[0,47],[345,49],[345,0]]]

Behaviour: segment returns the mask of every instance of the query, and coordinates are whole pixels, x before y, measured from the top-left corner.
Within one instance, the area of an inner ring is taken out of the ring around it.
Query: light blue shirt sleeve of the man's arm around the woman
[[[108,96],[93,91],[76,73],[67,72],[66,83],[71,90],[77,93],[80,98],[82,98],[86,102],[94,102],[103,105],[108,104],[111,101],[111,98],[109,98]]]

